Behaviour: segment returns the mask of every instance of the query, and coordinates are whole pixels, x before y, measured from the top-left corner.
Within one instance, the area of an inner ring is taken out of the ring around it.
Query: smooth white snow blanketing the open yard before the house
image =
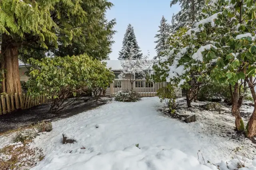
[[[46,157],[32,169],[210,170],[202,165],[204,160],[214,164],[228,161],[234,156],[232,149],[242,146],[212,131],[207,133],[208,126],[200,118],[186,124],[164,117],[158,111],[162,107],[158,97],[134,103],[112,101],[54,121],[51,132],[34,139],[33,145],[42,147]],[[77,142],[63,145],[62,133]],[[8,144],[9,139],[10,136],[2,136],[0,143]],[[255,150],[254,147],[251,143],[247,149]]]

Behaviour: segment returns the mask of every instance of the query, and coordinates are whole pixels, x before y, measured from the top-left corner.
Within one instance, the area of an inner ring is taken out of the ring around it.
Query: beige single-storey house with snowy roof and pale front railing
[[[124,78],[119,79],[118,75],[121,73],[122,68],[122,60],[105,60],[107,63],[107,68],[111,68],[111,70],[115,74],[115,80],[106,90],[105,96],[114,97],[115,94],[126,88],[133,88],[136,92],[140,94],[140,96],[149,97],[156,96],[156,92],[158,89],[165,87],[168,83],[154,83],[154,82],[146,82],[145,78],[139,78],[135,80],[133,84],[130,83],[130,74],[125,75]],[[137,75],[132,75],[134,79],[138,78]],[[176,88],[176,96],[181,97],[182,91],[181,88]]]

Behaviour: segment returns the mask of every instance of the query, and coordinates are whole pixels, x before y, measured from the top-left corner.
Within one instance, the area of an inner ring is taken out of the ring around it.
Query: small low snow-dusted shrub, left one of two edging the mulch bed
[[[22,131],[19,131],[12,139],[12,141],[14,143],[17,143],[17,142],[22,142],[24,143],[25,141],[27,140],[32,140],[36,137],[36,132],[33,131],[32,129],[26,129],[26,130],[22,130]]]

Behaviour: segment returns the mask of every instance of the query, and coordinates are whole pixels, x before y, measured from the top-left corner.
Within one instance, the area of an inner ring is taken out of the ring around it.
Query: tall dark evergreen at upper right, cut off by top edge
[[[193,27],[200,20],[199,14],[205,5],[204,0],[172,0],[170,7],[178,3],[181,10],[172,16],[172,31],[177,31],[184,26]]]

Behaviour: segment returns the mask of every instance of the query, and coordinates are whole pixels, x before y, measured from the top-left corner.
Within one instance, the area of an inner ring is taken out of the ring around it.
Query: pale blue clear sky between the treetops
[[[116,18],[117,24],[114,30],[118,31],[114,35],[115,43],[112,45],[111,60],[117,60],[119,51],[122,49],[122,41],[127,25],[130,23],[134,27],[134,32],[140,50],[144,55],[149,51],[152,59],[156,55],[156,39],[154,36],[159,30],[162,16],[170,23],[172,15],[176,14],[180,7],[178,5],[170,8],[170,0],[109,0],[114,7],[107,12],[108,20]]]

